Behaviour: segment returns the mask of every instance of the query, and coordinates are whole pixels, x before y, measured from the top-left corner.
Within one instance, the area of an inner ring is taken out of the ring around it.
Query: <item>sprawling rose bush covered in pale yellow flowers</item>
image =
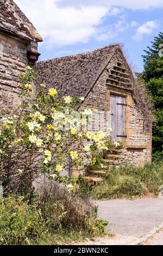
[[[100,154],[108,148],[105,134],[82,132],[91,109],[79,108],[83,98],[64,96],[58,100],[55,88],[40,85],[32,95],[35,80],[33,69],[20,76],[21,103],[10,114],[1,112],[0,119],[0,178],[4,191],[23,190],[32,186],[39,174],[48,174],[72,190],[69,176],[62,170],[101,166]]]

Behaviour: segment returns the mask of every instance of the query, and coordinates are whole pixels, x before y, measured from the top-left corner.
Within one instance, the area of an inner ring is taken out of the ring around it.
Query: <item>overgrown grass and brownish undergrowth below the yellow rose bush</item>
[[[89,200],[55,187],[40,197],[0,198],[0,245],[60,245],[104,234]]]

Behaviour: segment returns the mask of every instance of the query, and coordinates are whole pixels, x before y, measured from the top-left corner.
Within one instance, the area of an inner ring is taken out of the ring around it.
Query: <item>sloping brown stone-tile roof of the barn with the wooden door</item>
[[[55,88],[59,97],[86,97],[117,47],[120,46],[109,45],[92,52],[38,62],[36,90],[37,85],[43,83],[47,89]]]

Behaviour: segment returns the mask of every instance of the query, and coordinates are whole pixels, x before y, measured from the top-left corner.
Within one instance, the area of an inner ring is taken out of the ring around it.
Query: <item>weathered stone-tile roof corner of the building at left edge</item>
[[[12,0],[0,0],[0,30],[27,40],[42,41],[32,23]]]

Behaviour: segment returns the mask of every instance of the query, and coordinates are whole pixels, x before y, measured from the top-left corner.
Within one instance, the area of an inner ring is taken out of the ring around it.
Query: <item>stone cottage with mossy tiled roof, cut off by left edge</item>
[[[18,74],[39,57],[42,38],[12,0],[0,0],[0,102],[10,111],[17,102]]]

